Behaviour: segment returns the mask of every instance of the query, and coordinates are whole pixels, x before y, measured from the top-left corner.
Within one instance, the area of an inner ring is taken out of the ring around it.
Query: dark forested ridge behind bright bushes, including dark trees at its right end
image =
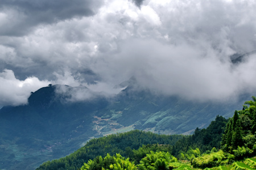
[[[179,156],[190,148],[220,148],[222,129],[227,120],[217,116],[207,129],[199,129],[193,135],[159,135],[150,132],[133,130],[127,133],[112,134],[107,137],[92,139],[71,155],[42,164],[38,169],[79,169],[84,162],[96,156],[115,155],[116,153],[139,161],[150,151],[165,151]],[[213,130],[214,129],[214,130]],[[214,131],[216,131],[215,134]],[[204,143],[207,139],[208,143]],[[211,139],[214,139],[213,142]]]

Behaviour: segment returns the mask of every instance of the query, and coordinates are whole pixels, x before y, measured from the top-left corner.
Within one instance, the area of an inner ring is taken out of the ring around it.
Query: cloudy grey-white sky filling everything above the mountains
[[[0,106],[48,84],[188,100],[255,93],[254,0],[0,0]],[[82,92],[81,92],[82,94]]]

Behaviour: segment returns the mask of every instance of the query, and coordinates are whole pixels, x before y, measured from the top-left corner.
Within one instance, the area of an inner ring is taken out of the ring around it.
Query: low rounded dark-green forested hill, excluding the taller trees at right
[[[182,137],[183,135],[159,135],[141,130],[112,134],[102,138],[91,139],[84,147],[81,147],[72,154],[64,158],[43,163],[37,169],[79,169],[85,162],[96,158],[96,156],[106,156],[107,154],[115,155],[119,153],[128,158],[134,154],[133,150],[138,150],[138,148],[143,145],[152,145],[155,143],[159,143],[159,145],[163,146],[166,145],[166,149],[171,151],[172,147],[169,148],[168,145],[173,146],[174,143]],[[160,147],[156,145],[151,148],[155,148],[155,150],[160,149]],[[148,154],[148,152],[150,151],[135,153],[137,157],[135,157],[134,160],[136,160],[136,158],[140,160],[141,156]],[[141,154],[141,156],[139,156],[139,154]]]

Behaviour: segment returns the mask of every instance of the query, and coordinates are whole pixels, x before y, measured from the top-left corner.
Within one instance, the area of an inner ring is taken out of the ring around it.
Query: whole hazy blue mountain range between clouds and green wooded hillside
[[[196,103],[138,90],[134,82],[126,86],[110,98],[84,86],[48,86],[31,93],[27,105],[3,107],[0,169],[33,169],[70,154],[89,138],[111,133],[141,129],[191,134],[196,127],[207,127],[217,114],[231,117],[250,99],[245,96],[232,104]],[[74,94],[81,91],[89,98],[75,100]]]

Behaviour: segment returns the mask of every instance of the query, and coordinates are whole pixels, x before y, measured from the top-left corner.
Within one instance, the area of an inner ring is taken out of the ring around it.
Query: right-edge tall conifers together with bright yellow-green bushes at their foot
[[[193,167],[209,168],[234,162],[232,169],[255,169],[254,159],[247,159],[246,164],[235,162],[254,156],[256,151],[256,97],[253,96],[253,101],[246,101],[245,104],[242,111],[234,112],[226,125],[222,150],[191,159]]]

